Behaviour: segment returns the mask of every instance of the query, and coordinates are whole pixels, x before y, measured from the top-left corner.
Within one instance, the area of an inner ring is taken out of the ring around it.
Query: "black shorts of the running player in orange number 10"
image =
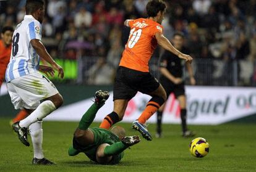
[[[160,83],[149,72],[140,72],[126,67],[118,67],[114,80],[114,100],[132,99],[140,91],[149,94],[155,91]]]

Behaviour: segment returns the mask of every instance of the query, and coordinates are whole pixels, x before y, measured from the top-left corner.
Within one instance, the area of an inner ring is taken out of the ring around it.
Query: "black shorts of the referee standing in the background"
[[[168,79],[160,78],[160,83],[165,89],[167,96],[169,96],[169,94],[171,94],[172,92],[174,93],[174,96],[176,98],[185,95],[184,82],[181,84],[174,84],[172,81],[169,81]]]

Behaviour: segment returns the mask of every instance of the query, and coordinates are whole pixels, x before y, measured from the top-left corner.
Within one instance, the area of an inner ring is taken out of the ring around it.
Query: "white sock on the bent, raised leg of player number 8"
[[[45,118],[49,113],[56,110],[55,105],[51,100],[46,100],[42,102],[27,118],[20,121],[20,127],[28,128],[28,126],[32,125],[36,121],[41,121]]]

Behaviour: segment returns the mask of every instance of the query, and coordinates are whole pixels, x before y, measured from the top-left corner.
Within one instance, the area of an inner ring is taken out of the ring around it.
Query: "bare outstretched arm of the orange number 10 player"
[[[157,32],[155,34],[155,37],[156,37],[156,40],[158,42],[158,44],[163,47],[164,49],[166,49],[167,51],[169,52],[172,52],[173,54],[177,55],[177,57],[179,57],[180,59],[184,59],[186,60],[186,62],[189,62],[191,63],[193,58],[190,57],[190,55],[187,55],[187,54],[183,54],[182,52],[178,51],[171,43],[170,41],[165,38],[165,36],[160,33],[160,32]]]

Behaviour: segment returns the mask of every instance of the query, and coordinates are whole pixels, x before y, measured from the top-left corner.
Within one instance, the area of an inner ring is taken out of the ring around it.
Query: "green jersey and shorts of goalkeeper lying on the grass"
[[[73,139],[73,147],[79,152],[85,153],[90,160],[96,162],[96,150],[98,149],[99,145],[101,144],[114,144],[116,142],[120,142],[119,137],[116,134],[111,133],[110,131],[103,129],[103,128],[90,128],[94,134],[94,143],[83,147],[79,145],[75,139]],[[116,164],[120,162],[121,158],[124,157],[124,152],[121,154],[113,155],[113,158],[110,163]]]

